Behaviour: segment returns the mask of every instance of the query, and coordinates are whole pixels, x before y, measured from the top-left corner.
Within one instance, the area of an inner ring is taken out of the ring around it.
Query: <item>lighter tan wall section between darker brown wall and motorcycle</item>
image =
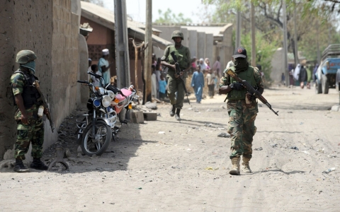
[[[78,16],[71,11],[70,0],[54,0],[53,28],[52,114],[55,126],[60,126],[62,120],[80,104],[80,93],[77,93],[79,24]]]

